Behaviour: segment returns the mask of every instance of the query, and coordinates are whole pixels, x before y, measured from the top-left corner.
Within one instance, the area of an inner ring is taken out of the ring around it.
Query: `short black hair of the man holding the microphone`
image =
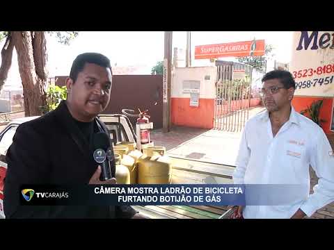
[[[111,71],[110,60],[106,56],[101,53],[82,53],[77,56],[72,63],[70,78],[73,82],[77,81],[78,74],[84,69],[86,63],[93,63],[101,67],[108,67]]]

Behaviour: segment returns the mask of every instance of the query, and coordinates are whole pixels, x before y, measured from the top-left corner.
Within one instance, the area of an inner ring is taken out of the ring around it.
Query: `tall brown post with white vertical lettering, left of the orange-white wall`
[[[162,101],[163,101],[163,132],[170,131],[170,94],[171,94],[171,60],[172,60],[172,40],[173,31],[165,31],[164,42],[164,78],[162,86]]]

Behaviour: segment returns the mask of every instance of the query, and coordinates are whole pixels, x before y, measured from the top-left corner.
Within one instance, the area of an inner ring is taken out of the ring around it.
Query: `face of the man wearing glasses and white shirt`
[[[285,89],[278,79],[264,81],[262,86],[262,100],[269,112],[278,111],[289,105],[294,97],[294,88]]]

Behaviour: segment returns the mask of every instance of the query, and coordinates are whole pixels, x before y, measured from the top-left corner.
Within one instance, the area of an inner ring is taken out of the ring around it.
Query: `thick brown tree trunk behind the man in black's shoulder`
[[[46,103],[45,85],[47,83],[44,32],[13,31],[12,38],[15,42],[19,74],[22,79],[25,115],[41,115],[41,108]]]

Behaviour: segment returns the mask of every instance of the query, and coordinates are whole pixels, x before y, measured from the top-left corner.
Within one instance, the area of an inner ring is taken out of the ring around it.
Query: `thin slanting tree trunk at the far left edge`
[[[12,65],[13,49],[14,43],[9,33],[6,42],[1,50],[0,90],[2,90],[2,87],[7,80],[8,71],[10,69],[10,66]]]

